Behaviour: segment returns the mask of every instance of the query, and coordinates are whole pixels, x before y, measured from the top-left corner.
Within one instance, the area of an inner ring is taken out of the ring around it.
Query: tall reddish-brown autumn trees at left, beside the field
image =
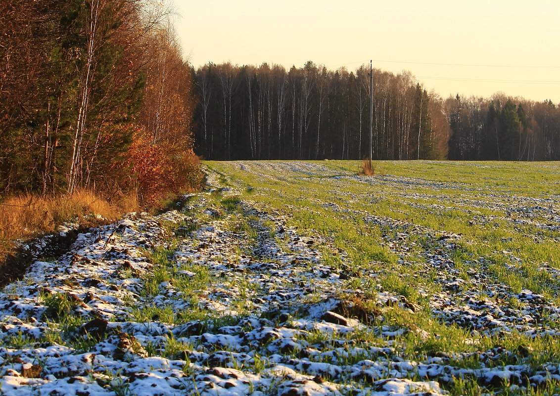
[[[148,0],[2,2],[4,196],[89,188],[150,201],[198,182],[193,72],[170,15]]]

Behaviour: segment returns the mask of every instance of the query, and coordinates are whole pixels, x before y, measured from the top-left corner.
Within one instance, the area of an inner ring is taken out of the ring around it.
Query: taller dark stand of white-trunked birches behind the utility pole
[[[209,63],[195,73],[197,152],[208,159],[362,158],[369,68]],[[409,73],[374,70],[376,158],[445,158],[442,101]]]

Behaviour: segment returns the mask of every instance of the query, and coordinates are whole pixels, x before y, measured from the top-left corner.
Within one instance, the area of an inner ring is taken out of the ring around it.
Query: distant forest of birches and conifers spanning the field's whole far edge
[[[195,70],[195,152],[206,159],[369,155],[369,65]],[[560,160],[560,107],[496,94],[442,98],[412,74],[374,69],[374,159]]]

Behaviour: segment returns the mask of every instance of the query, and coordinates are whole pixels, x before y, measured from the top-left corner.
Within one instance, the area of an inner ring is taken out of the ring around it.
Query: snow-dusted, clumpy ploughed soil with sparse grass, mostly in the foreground
[[[236,166],[266,178],[329,173],[318,164],[262,164],[258,171]],[[217,175],[209,175],[209,184],[219,185]],[[237,215],[212,203],[216,191],[190,196],[180,212],[130,214],[79,234],[64,256],[36,261],[22,280],[6,286],[0,293],[0,394],[441,395],[458,380],[511,390],[560,381],[558,362],[530,365],[530,350],[522,347],[404,357],[396,337],[430,334],[384,326],[382,315],[393,307],[413,314],[418,305],[377,287],[364,309],[358,302],[366,299],[364,291],[349,287],[358,275],[323,257],[328,251],[344,262],[344,249],[291,227],[287,213],[236,201],[238,192],[218,193],[231,197]],[[319,204],[347,213],[337,203]],[[538,205],[521,209],[517,219],[540,224],[529,215]],[[486,275],[483,261],[468,280],[458,275],[452,252],[462,235],[356,214],[368,224],[426,238],[420,252],[425,271],[441,286],[430,295],[429,309],[442,323],[489,337],[560,335],[553,320],[560,307],[545,296],[514,293]],[[558,213],[550,218],[546,227],[560,227]],[[406,260],[409,247],[398,232],[385,235],[384,244]],[[167,264],[153,252],[163,252]],[[542,270],[558,277],[553,267]],[[168,275],[154,284],[157,271]],[[377,276],[374,270],[359,274],[374,286]],[[467,281],[476,287],[461,287]],[[511,299],[519,304],[506,303]],[[475,368],[460,364],[472,360]]]

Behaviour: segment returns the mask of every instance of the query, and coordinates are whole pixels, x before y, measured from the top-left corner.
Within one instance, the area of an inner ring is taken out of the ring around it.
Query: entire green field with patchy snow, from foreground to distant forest
[[[29,244],[0,394],[560,393],[560,164],[359,166],[206,162],[176,210]]]

